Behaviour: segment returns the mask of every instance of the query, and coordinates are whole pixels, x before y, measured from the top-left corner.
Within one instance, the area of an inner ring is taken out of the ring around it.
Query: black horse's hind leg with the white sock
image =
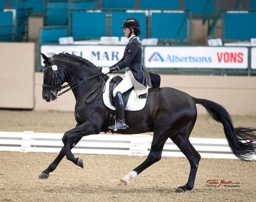
[[[135,178],[138,174],[147,169],[150,165],[153,165],[154,163],[158,162],[161,159],[163,147],[168,137],[159,137],[159,135],[157,136],[154,133],[151,149],[146,160],[143,163],[141,163],[138,167],[136,167],[134,170],[125,175],[120,180],[119,185],[126,185],[129,182],[129,180]]]

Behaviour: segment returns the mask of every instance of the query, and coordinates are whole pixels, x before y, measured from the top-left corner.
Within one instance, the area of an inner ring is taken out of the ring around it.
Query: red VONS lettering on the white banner
[[[244,61],[243,56],[244,54],[241,52],[239,53],[217,52],[218,62],[224,62],[224,63],[242,63]]]

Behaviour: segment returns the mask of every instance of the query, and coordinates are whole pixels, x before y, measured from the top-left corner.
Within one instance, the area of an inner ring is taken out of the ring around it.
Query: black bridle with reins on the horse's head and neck
[[[53,61],[53,60],[52,60]],[[103,78],[103,73],[101,72],[98,72],[97,74],[95,75],[92,75],[91,77],[88,77],[88,78],[85,78],[83,80],[80,80],[80,81],[77,81],[77,82],[74,82],[72,84],[67,84],[65,86],[61,86],[59,85],[58,83],[58,77],[60,77],[60,79],[65,82],[65,80],[61,77],[59,71],[58,71],[58,66],[54,64],[54,61],[53,61],[53,65],[51,66],[47,66],[47,68],[44,68],[43,71],[47,70],[47,69],[52,69],[52,83],[51,83],[51,86],[50,85],[45,85],[43,84],[42,87],[43,88],[50,88],[50,92],[55,96],[55,97],[59,97],[61,96],[62,94],[65,94],[65,92],[71,90],[71,89],[74,89],[76,88],[77,86],[80,86],[82,84],[84,84],[87,80],[89,79],[92,79],[94,77],[99,77],[100,79],[100,84],[97,88],[93,89],[89,94],[85,95],[85,100],[86,100],[86,103],[90,103],[92,102],[99,94],[100,92],[104,92],[105,91],[105,80]],[[67,74],[67,73],[66,73]],[[68,88],[69,87],[69,88]],[[58,94],[59,91],[61,91],[62,89],[65,89],[65,88],[68,88],[66,89],[65,91],[61,92],[60,94]],[[94,97],[92,97],[90,100],[87,99],[89,98],[91,95],[94,94],[94,92],[96,92],[98,89],[98,92],[97,94],[94,95]]]

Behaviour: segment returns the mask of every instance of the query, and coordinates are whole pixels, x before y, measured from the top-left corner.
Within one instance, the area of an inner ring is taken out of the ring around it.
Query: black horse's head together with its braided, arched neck
[[[89,94],[87,97],[85,96],[85,99],[86,102],[91,102],[99,94],[97,92],[103,89],[104,79],[108,78],[107,75],[99,72],[97,66],[82,57],[68,53],[59,53],[52,57],[47,57],[43,53],[41,55],[45,64],[43,99],[46,102],[51,102],[71,89],[74,95],[88,91]],[[62,86],[64,82],[67,82],[68,85]],[[58,94],[60,90],[68,87],[69,89]],[[93,99],[87,99],[89,97],[93,97]]]

